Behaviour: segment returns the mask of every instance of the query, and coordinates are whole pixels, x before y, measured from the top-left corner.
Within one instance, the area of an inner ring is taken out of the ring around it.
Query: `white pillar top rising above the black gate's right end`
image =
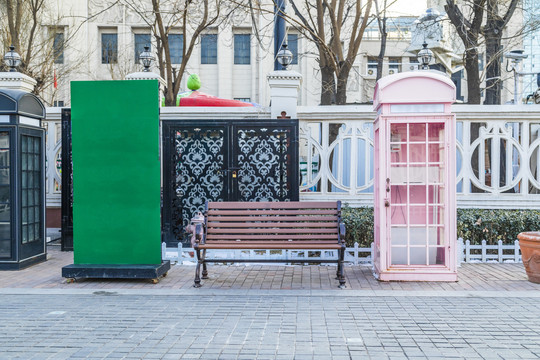
[[[302,75],[296,71],[276,70],[267,75],[270,85],[271,118],[286,116],[296,119],[298,106],[298,90],[302,83]]]

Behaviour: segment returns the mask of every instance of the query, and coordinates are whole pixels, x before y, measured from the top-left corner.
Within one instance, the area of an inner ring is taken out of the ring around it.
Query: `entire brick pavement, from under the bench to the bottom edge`
[[[81,280],[73,254],[0,272],[4,359],[538,359],[540,285],[522,264],[464,264],[455,283],[378,282],[369,267],[173,266],[158,284]]]

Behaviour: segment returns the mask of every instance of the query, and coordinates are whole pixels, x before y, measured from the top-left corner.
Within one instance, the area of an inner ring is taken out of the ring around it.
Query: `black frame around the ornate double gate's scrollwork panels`
[[[288,128],[290,131],[290,144],[288,146],[287,156],[287,180],[289,194],[286,199],[289,201],[299,200],[299,149],[298,149],[298,120],[291,119],[257,119],[257,120],[172,120],[162,123],[163,136],[163,210],[162,210],[162,241],[169,247],[177,246],[182,242],[173,233],[173,201],[174,201],[174,134],[173,132],[179,129],[195,129],[195,128],[221,128],[224,130],[224,148],[227,149],[227,154],[224,156],[224,172],[227,174],[224,186],[225,191],[224,201],[236,201],[239,199],[237,185],[234,186],[231,172],[235,170],[234,157],[234,137],[238,130],[257,130],[269,128]],[[238,184],[238,182],[236,182]]]

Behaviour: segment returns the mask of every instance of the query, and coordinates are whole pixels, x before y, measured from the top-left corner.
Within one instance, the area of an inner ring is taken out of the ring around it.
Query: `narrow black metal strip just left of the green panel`
[[[73,163],[71,109],[62,109],[62,251],[73,251]]]

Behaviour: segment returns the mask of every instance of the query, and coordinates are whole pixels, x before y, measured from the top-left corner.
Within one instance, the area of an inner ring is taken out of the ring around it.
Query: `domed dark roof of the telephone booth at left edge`
[[[45,106],[34,94],[15,89],[0,89],[0,114],[44,119]]]

